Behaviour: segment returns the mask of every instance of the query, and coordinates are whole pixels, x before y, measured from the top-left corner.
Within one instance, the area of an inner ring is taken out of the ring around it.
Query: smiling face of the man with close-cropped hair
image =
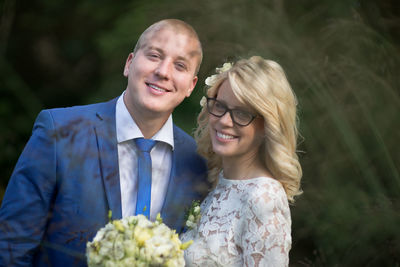
[[[197,82],[198,49],[197,40],[168,27],[148,34],[124,68],[124,100],[134,117],[167,117],[190,96]]]

